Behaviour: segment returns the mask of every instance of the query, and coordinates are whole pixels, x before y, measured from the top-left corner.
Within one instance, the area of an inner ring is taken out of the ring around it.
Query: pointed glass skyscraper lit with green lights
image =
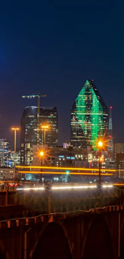
[[[86,80],[71,107],[71,145],[96,150],[98,137],[107,136],[108,109],[93,80]]]

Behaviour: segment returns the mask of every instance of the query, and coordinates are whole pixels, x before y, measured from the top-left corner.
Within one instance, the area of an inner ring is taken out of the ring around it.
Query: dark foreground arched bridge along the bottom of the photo
[[[124,205],[0,221],[1,259],[124,258]]]

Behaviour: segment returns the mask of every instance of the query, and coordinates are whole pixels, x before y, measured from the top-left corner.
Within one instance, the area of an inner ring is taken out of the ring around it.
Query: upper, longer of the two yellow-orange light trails
[[[56,166],[34,166],[34,165],[16,165],[16,168],[37,168],[37,169],[56,169],[56,170],[72,170],[72,171],[99,171],[98,168],[82,168],[82,167],[56,167]],[[116,172],[115,169],[102,169],[101,171]],[[120,171],[120,170],[118,170]],[[124,170],[122,170],[124,171]]]

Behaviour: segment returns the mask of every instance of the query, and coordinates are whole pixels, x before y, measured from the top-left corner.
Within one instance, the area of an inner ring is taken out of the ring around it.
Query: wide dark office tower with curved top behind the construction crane
[[[37,131],[37,110],[35,106],[25,107],[21,119],[21,164],[32,164],[32,146],[44,143],[44,131]],[[58,114],[56,107],[40,107],[40,128],[48,125],[46,144],[48,147],[58,145]],[[38,139],[39,138],[39,139]]]

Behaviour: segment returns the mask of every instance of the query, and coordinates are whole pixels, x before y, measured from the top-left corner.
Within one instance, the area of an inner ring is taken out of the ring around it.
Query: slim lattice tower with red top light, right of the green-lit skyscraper
[[[109,157],[113,157],[114,145],[113,145],[113,132],[112,132],[112,106],[110,106],[109,113],[109,131],[108,131],[108,155]]]

